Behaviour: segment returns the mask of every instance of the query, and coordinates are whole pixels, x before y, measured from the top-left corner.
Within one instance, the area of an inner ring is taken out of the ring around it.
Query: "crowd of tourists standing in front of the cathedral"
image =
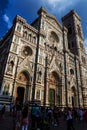
[[[0,109],[0,119],[4,118],[5,105]],[[67,130],[75,130],[73,122],[87,122],[87,110],[82,108],[53,108],[39,106],[37,103],[21,105],[17,100],[10,105],[10,115],[13,117],[13,130],[50,130],[51,126],[59,126],[66,122]]]

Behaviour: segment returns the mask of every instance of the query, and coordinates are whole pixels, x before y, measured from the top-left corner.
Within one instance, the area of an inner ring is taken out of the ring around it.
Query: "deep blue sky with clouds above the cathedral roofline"
[[[21,15],[31,23],[37,17],[37,11],[41,6],[60,23],[61,17],[74,9],[81,17],[87,47],[87,0],[0,0],[0,38],[11,27],[16,15]]]

